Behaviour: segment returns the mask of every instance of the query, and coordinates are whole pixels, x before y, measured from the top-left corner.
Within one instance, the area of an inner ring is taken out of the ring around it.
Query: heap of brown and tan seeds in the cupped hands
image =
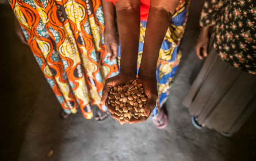
[[[147,98],[143,95],[142,84],[137,84],[136,80],[130,80],[118,87],[111,88],[108,104],[116,110],[115,114],[126,122],[132,117],[138,119],[145,116],[144,107]]]

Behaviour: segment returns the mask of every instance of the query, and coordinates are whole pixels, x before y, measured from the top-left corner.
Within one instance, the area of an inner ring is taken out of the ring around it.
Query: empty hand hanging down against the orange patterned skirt
[[[110,61],[117,57],[118,53],[118,38],[116,35],[116,30],[105,30],[104,31],[104,42],[108,51],[108,59]]]

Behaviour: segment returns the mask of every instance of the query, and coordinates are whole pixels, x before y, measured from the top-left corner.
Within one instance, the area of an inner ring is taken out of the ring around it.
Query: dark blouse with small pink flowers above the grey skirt
[[[256,74],[256,0],[206,0],[200,26],[213,26],[222,60]]]

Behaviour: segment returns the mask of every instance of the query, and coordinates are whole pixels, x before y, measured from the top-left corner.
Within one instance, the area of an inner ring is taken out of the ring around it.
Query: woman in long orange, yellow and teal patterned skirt
[[[116,60],[107,59],[101,1],[10,0],[10,4],[18,29],[65,111],[63,117],[80,107],[84,118],[91,119],[94,104],[100,109],[95,119],[106,118],[101,92],[105,79],[118,74],[118,66]]]

